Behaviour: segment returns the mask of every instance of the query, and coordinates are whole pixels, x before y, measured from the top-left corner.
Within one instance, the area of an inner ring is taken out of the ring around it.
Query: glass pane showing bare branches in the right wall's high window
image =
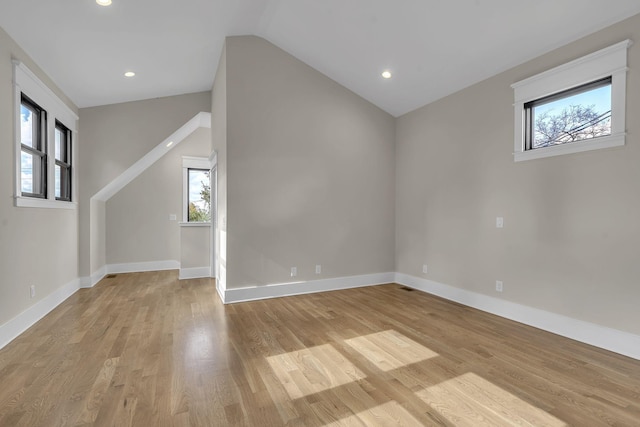
[[[611,83],[533,107],[531,148],[611,135]]]

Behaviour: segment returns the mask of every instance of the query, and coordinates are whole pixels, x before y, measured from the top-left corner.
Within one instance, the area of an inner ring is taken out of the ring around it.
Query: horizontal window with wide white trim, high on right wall
[[[626,40],[512,85],[515,161],[624,145],[629,45]]]

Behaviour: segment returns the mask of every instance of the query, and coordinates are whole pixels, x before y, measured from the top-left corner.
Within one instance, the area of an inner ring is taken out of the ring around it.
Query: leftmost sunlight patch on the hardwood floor
[[[365,374],[330,344],[267,358],[291,399],[365,378]]]

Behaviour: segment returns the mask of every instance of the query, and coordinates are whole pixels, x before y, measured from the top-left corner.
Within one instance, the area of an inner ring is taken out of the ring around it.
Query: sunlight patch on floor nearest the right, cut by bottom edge
[[[471,372],[416,394],[456,426],[566,426],[542,409]]]

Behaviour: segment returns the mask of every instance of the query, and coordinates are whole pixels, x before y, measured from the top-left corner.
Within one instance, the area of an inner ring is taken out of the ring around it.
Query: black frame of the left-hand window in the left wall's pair
[[[20,177],[20,194],[24,197],[33,197],[38,199],[46,199],[47,198],[47,111],[40,107],[36,102],[34,102],[31,98],[26,96],[24,93],[21,93],[20,96],[20,107],[27,107],[32,114],[37,115],[38,125],[35,127],[35,135],[32,135],[32,144],[34,147],[30,147],[22,143],[22,134],[20,135],[20,156],[22,157],[22,152],[27,152],[34,157],[39,157],[40,159],[40,167],[38,170],[34,167],[32,169],[32,180],[34,184],[33,188],[38,188],[35,185],[36,179],[39,181],[40,192],[24,192],[22,191],[22,177]],[[35,137],[36,141],[33,141]],[[33,164],[33,162],[32,162]]]

